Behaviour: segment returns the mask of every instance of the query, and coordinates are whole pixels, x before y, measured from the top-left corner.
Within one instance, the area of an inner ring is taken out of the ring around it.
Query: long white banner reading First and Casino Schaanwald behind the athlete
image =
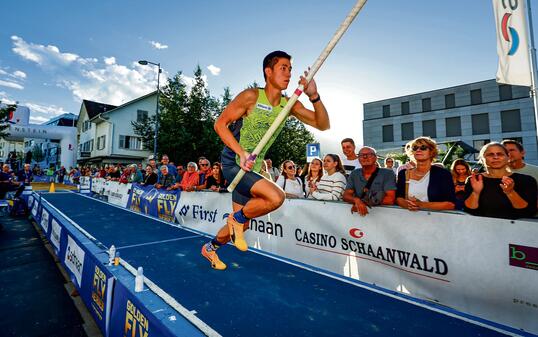
[[[182,193],[177,221],[214,235],[231,195]],[[538,333],[538,223],[286,200],[253,219],[249,246]],[[225,255],[222,258],[225,260]]]

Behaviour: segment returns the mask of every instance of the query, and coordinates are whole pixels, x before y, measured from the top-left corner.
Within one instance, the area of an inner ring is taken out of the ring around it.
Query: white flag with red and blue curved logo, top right
[[[531,85],[525,0],[492,0],[497,28],[497,82]]]

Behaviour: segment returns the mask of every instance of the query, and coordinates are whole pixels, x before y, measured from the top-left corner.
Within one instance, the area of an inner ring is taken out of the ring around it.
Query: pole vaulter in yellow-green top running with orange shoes
[[[305,76],[307,72],[305,72]],[[233,213],[227,219],[215,238],[202,247],[202,255],[211,262],[211,267],[224,270],[224,264],[217,256],[217,249],[232,241],[235,247],[246,251],[248,245],[243,232],[248,229],[249,220],[272,212],[282,205],[285,194],[274,182],[263,178],[260,172],[264,155],[284,127],[275,132],[265,148],[255,160],[250,153],[269,129],[277,115],[284,108],[287,98],[282,95],[291,78],[291,56],[283,51],[274,51],[263,59],[265,88],[246,89],[235,97],[215,122],[215,131],[225,146],[221,162],[224,177],[231,182],[239,170],[247,173],[232,194]],[[329,116],[321,102],[314,80],[307,83],[301,76],[300,84],[310,99],[314,110],[309,110],[297,101],[291,108],[291,115],[303,123],[319,130],[330,127]]]

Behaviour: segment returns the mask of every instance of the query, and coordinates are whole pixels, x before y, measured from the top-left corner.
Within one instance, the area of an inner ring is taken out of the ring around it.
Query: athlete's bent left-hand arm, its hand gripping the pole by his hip
[[[254,166],[254,161],[247,161],[249,153],[247,153],[234,138],[228,125],[241,119],[244,115],[250,112],[254,107],[254,104],[258,100],[258,90],[246,89],[237,95],[228,106],[224,109],[219,118],[215,121],[215,132],[219,135],[220,139],[228,146],[232,151],[239,155],[241,158],[241,168],[245,171],[250,171]]]

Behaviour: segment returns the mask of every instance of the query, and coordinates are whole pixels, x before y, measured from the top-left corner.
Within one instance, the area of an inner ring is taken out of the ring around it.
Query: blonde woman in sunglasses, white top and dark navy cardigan
[[[415,164],[398,174],[396,203],[410,211],[420,209],[452,210],[456,195],[452,175],[433,165],[437,143],[429,137],[418,137],[405,145],[405,152]]]

